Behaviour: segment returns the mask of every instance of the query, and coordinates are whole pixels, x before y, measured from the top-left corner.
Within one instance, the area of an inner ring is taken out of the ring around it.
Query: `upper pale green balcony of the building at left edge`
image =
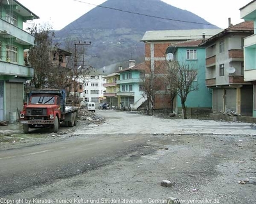
[[[19,27],[0,18],[0,37],[6,40],[12,38],[13,43],[20,45],[34,45],[35,37]]]

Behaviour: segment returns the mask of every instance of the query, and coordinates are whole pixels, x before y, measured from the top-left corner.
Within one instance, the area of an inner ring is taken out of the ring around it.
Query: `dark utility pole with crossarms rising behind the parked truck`
[[[84,41],[83,43],[81,43],[80,41],[78,41],[78,43],[75,43],[75,57],[74,57],[74,99],[73,99],[73,106],[74,106],[74,102],[79,101],[77,100],[77,84],[76,84],[76,80],[78,78],[78,71],[77,71],[77,58],[79,58],[79,56],[77,56],[77,49],[79,46],[87,46],[87,45],[91,45],[91,41],[89,43],[86,43],[86,41]],[[83,55],[84,56],[84,55]],[[80,105],[80,104],[79,104]]]

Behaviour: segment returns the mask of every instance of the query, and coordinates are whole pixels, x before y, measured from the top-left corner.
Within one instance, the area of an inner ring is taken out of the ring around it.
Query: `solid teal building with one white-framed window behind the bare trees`
[[[198,91],[189,92],[185,105],[187,108],[212,108],[212,92],[205,85],[205,48],[198,47],[202,40],[189,40],[175,43],[166,50],[167,56],[173,56],[180,65],[189,66],[196,71],[195,84]],[[168,58],[167,58],[168,59]],[[180,97],[177,97],[177,107],[182,108]]]

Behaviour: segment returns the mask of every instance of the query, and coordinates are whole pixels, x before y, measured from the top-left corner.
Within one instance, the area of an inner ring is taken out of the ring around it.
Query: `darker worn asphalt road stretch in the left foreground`
[[[145,137],[138,135],[77,136],[61,142],[0,151],[0,198],[111,163],[140,148],[145,141]]]

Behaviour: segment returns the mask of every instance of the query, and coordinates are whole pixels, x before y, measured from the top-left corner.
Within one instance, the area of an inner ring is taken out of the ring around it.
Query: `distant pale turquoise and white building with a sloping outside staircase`
[[[145,63],[135,65],[134,60],[129,61],[129,68],[122,69],[116,73],[120,79],[116,81],[120,91],[116,93],[121,105],[136,110],[144,103],[143,85],[141,84],[141,73],[145,71]]]

